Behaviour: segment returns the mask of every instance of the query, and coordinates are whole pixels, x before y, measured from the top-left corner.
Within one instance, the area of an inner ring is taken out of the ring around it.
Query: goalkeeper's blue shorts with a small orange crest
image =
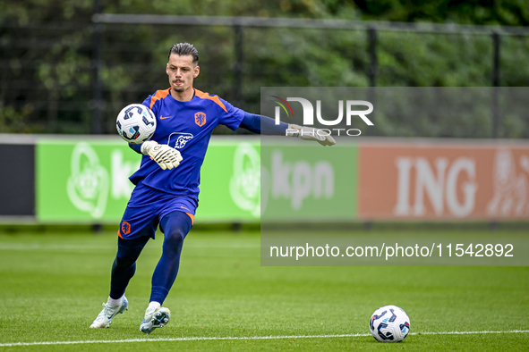
[[[158,223],[167,214],[183,212],[191,221],[198,202],[187,196],[175,196],[143,185],[141,182],[132,191],[123,218],[119,224],[117,235],[122,239],[137,239],[149,236],[154,239]],[[161,229],[160,227],[160,230]]]

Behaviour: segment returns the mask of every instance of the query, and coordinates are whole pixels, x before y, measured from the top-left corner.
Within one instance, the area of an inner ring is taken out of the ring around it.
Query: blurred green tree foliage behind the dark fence
[[[98,0],[101,1],[101,0]],[[0,131],[90,133],[94,109],[94,0],[0,3]],[[111,0],[103,13],[259,16],[526,26],[524,0]],[[235,75],[235,33],[222,26],[104,25],[101,66],[104,131],[115,113],[167,88],[166,55],[175,42],[201,52],[196,87],[260,112],[260,87],[367,87],[367,34],[344,29],[243,29],[242,81]],[[381,87],[491,86],[490,36],[379,31]],[[502,86],[528,86],[529,37],[501,37]],[[399,127],[399,135],[435,136],[446,128]],[[503,137],[529,137],[525,120],[504,122]],[[517,126],[516,128],[513,126]],[[521,126],[521,127],[520,127]],[[397,127],[395,127],[397,129]],[[465,129],[468,130],[468,129]],[[489,137],[490,128],[467,137]],[[218,130],[219,133],[226,130]],[[395,130],[393,130],[395,132]],[[392,130],[378,130],[391,135]],[[394,134],[393,134],[394,135]],[[459,135],[458,135],[459,136]]]

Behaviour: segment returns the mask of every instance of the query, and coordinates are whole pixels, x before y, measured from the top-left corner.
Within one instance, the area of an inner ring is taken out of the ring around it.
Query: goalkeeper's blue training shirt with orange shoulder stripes
[[[193,88],[194,89],[194,88]],[[141,166],[129,180],[166,193],[185,195],[198,201],[201,165],[215,127],[226,125],[236,130],[243,121],[243,110],[218,96],[194,89],[188,102],[180,102],[170,94],[171,88],[157,90],[142,103],[149,106],[157,120],[151,140],[175,147],[183,161],[171,170],[162,170],[158,163],[143,155]]]

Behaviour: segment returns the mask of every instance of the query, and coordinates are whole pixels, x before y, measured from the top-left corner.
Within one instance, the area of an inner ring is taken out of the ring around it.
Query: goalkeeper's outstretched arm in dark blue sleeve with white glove
[[[244,112],[244,118],[239,127],[258,134],[299,137],[304,140],[315,140],[322,146],[334,146],[337,143],[334,138],[324,130],[288,124],[286,122],[279,122],[277,125],[274,119],[271,119],[268,116],[256,115],[254,113]]]

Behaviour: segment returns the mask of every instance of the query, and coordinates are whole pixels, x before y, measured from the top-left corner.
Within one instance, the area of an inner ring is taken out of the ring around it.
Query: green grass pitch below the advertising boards
[[[164,304],[171,322],[147,336],[161,236],[138,261],[129,311],[91,330],[115,231],[0,232],[0,351],[529,349],[527,267],[261,267],[258,231],[200,229]],[[371,313],[388,304],[410,317],[404,342],[368,335]]]

